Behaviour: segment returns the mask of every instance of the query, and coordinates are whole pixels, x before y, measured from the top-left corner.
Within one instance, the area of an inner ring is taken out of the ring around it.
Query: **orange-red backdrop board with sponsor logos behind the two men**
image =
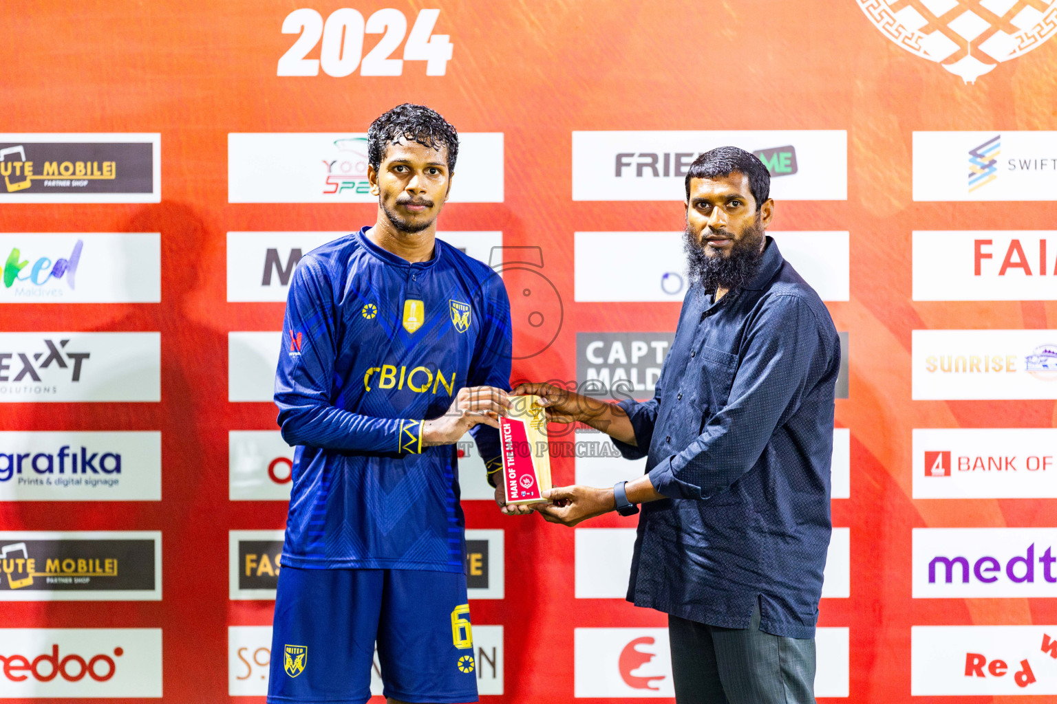
[[[439,236],[503,277],[514,380],[599,398],[648,398],[671,347],[689,163],[756,153],[841,336],[820,701],[1053,698],[1057,2],[15,4],[0,595],[30,601],[3,602],[0,657],[44,660],[0,667],[0,697],[263,701],[283,306],[301,256],[374,221],[366,132],[415,101],[461,132]],[[645,470],[550,433],[558,483]],[[670,702],[665,616],[623,600],[636,518],[502,516],[471,438],[452,452],[484,701]],[[153,582],[125,569],[147,543]],[[116,669],[44,680],[52,653]]]

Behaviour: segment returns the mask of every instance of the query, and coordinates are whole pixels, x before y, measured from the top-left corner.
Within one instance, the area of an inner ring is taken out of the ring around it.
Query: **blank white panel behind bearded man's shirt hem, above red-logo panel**
[[[576,598],[624,598],[631,577],[634,528],[577,528]],[[822,581],[822,597],[851,595],[851,529],[834,528]]]

